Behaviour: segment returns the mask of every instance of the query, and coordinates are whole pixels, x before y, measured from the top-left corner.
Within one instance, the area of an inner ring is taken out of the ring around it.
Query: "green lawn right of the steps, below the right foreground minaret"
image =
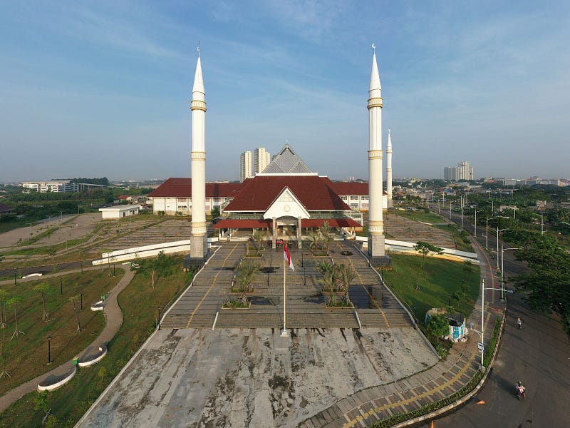
[[[448,297],[458,290],[465,280],[467,296],[464,301],[451,299],[451,305],[469,317],[480,290],[480,268],[477,265],[425,258],[416,255],[392,254],[393,270],[383,272],[391,290],[410,307],[416,307],[418,322],[423,323],[425,312],[432,307],[446,307]],[[416,290],[419,287],[419,290]]]

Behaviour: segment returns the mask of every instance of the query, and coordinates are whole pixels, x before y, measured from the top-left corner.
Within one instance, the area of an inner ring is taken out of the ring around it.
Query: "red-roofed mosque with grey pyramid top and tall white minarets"
[[[265,230],[273,245],[281,236],[296,240],[328,223],[339,233],[362,228],[362,211],[368,210],[368,256],[373,265],[390,264],[385,255],[383,210],[392,206],[392,142],[386,147],[386,192],[383,192],[382,108],[380,75],[373,45],[368,90],[368,183],[333,182],[314,173],[286,145],[267,167],[243,183],[206,183],[206,102],[202,63],[198,54],[192,87],[192,178],[169,178],[150,193],[153,210],[192,213],[190,260],[207,257],[206,213],[214,207],[223,219],[215,228],[220,235]]]

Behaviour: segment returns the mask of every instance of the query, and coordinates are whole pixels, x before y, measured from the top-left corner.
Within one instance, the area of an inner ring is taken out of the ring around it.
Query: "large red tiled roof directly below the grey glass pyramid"
[[[257,175],[242,183],[242,190],[224,209],[263,212],[289,188],[309,211],[350,210],[330,186],[331,180],[318,175]]]

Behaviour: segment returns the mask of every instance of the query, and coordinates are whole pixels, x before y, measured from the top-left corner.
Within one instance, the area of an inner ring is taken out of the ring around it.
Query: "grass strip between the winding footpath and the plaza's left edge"
[[[82,368],[68,384],[49,393],[48,404],[51,414],[59,421],[58,427],[73,427],[154,331],[157,306],[168,305],[187,285],[187,274],[182,272],[182,257],[177,257],[177,263],[180,269],[170,277],[159,278],[154,290],[150,287],[149,278],[136,275],[120,293],[118,302],[124,321],[108,344],[108,354],[93,367]],[[36,396],[37,392],[32,392],[2,412],[0,427],[41,426],[45,413],[33,409]]]

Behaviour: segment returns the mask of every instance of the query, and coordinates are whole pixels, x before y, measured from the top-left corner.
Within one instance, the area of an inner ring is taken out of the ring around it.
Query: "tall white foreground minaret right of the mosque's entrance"
[[[368,149],[368,256],[374,264],[385,256],[382,219],[382,87],[376,63],[376,46],[372,44],[372,73],[368,89],[370,147]]]

